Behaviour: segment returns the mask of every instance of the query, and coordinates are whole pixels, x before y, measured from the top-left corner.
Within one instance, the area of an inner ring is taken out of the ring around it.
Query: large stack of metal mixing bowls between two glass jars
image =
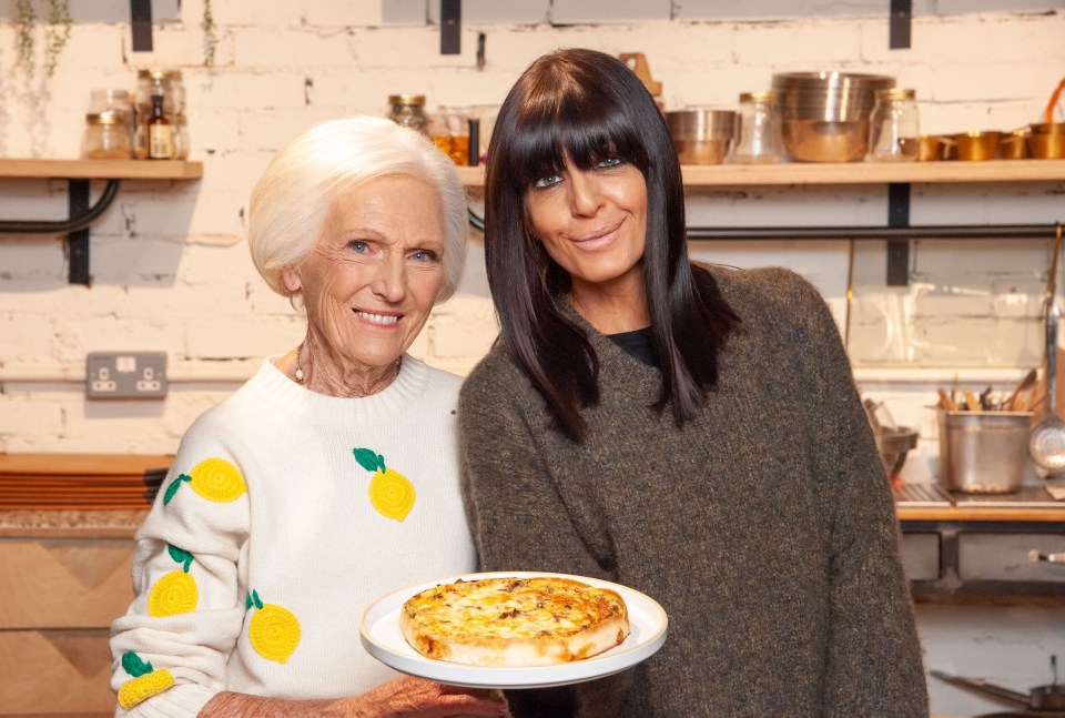
[[[773,90],[780,98],[784,149],[799,162],[856,162],[869,146],[869,114],[876,90],[895,79],[848,72],[780,72]]]

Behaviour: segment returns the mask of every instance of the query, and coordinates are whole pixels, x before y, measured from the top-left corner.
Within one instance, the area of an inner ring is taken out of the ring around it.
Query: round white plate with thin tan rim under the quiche
[[[616,590],[625,599],[628,608],[631,633],[620,646],[615,646],[598,656],[558,666],[529,668],[464,666],[426,658],[403,637],[399,630],[399,609],[415,594],[433,586],[454,583],[459,578],[476,580],[509,576],[517,578],[558,576]],[[667,623],[666,611],[658,601],[627,586],[566,574],[500,572],[452,576],[394,590],[366,607],[359,617],[358,627],[363,647],[369,655],[400,673],[466,688],[546,688],[602,678],[650,658],[666,643]]]

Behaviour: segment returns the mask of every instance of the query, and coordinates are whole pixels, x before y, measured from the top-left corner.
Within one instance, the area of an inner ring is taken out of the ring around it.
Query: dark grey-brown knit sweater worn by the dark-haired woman
[[[831,314],[787,270],[710,271],[742,324],[682,429],[650,407],[658,371],[579,317],[601,391],[584,444],[552,427],[500,346],[463,387],[481,568],[618,582],[669,616],[666,645],[636,669],[510,691],[513,710],[926,717],[891,492]]]

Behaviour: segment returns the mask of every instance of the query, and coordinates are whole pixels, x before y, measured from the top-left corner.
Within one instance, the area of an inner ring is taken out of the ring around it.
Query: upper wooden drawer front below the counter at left
[[[133,600],[132,555],[129,539],[0,540],[0,629],[109,627]]]

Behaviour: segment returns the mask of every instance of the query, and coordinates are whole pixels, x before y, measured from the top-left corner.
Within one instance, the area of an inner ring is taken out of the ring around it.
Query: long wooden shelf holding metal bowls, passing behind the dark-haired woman
[[[1065,181],[1065,160],[687,164],[681,170],[688,188]],[[458,171],[467,186],[484,188],[484,168]]]

